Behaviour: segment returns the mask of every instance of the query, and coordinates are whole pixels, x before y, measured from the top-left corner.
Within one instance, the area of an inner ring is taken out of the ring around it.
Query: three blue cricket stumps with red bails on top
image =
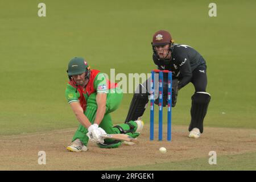
[[[168,73],[168,111],[167,111],[167,140],[171,141],[171,123],[172,123],[172,72],[168,70],[160,71],[154,69],[151,71],[150,84],[150,140],[154,140],[154,102],[155,102],[155,73],[159,73],[159,132],[158,140],[163,140],[163,73]]]

